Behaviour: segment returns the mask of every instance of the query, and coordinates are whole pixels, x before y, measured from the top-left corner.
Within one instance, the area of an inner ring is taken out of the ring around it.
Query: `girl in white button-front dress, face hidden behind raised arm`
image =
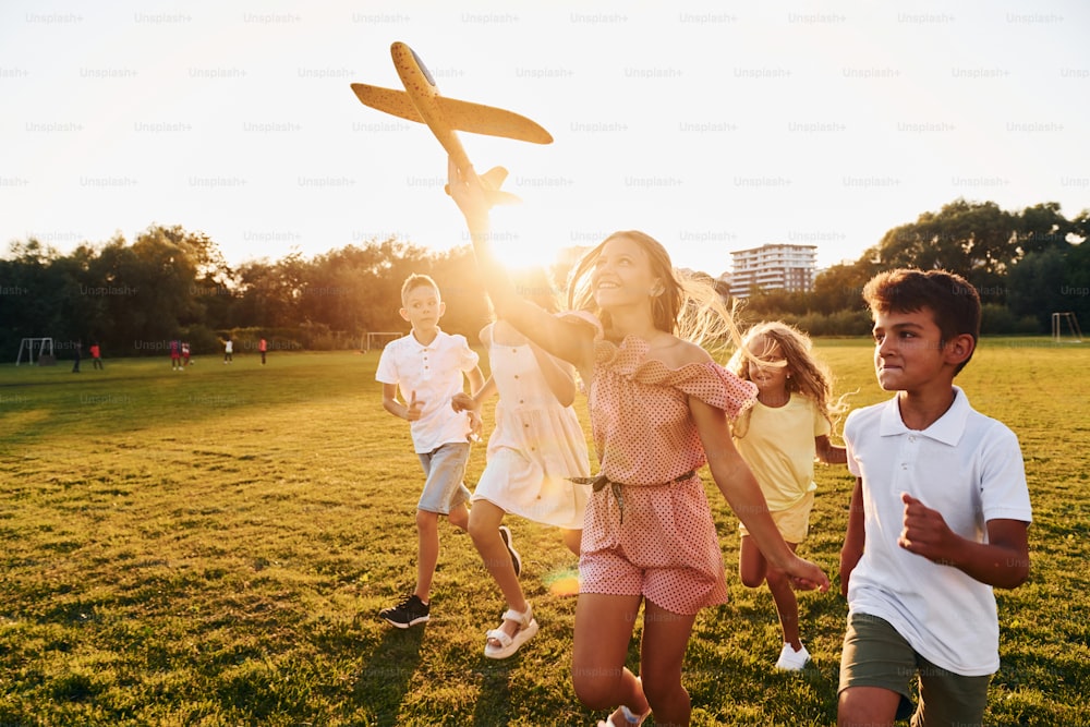
[[[534,303],[549,313],[559,304],[545,271],[525,277]],[[470,510],[470,535],[496,580],[507,610],[498,629],[487,632],[484,655],[511,656],[537,633],[537,621],[519,585],[521,561],[508,558],[508,512],[560,528],[565,544],[579,555],[588,488],[570,477],[590,475],[586,438],[572,409],[576,399],[571,365],[546,353],[505,320],[481,330],[492,376],[476,396],[455,397],[458,410],[479,410],[499,392],[496,428],[488,438],[488,460]]]

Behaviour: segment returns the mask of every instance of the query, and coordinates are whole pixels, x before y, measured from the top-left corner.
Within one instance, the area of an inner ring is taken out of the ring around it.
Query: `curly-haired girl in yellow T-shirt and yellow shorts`
[[[753,326],[727,368],[756,385],[756,403],[731,426],[738,453],[749,464],[772,519],[791,550],[810,531],[814,504],[814,459],[847,461],[844,447],[828,440],[836,405],[833,378],[812,353],[810,338],[779,322]],[[748,355],[747,355],[748,353]],[[799,633],[799,602],[787,574],[768,565],[743,523],[738,574],[755,589],[767,582],[784,643],[776,668],[797,671],[810,661]]]

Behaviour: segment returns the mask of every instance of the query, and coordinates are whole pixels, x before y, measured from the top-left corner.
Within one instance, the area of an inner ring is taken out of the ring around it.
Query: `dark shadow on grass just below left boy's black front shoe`
[[[353,696],[374,711],[378,725],[397,725],[398,713],[420,665],[426,626],[389,629],[360,670]]]

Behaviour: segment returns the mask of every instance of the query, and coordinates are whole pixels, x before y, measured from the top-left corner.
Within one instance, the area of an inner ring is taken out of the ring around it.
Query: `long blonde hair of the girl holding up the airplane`
[[[652,274],[663,281],[664,291],[652,302],[655,328],[704,348],[723,347],[726,341],[741,346],[741,334],[734,316],[710,279],[701,279],[674,269],[670,255],[661,242],[645,232],[614,232],[588,252],[571,271],[568,282],[568,307],[593,313],[602,326],[611,325],[609,314],[598,308],[591,287],[591,271],[606,243],[628,238],[647,254]]]

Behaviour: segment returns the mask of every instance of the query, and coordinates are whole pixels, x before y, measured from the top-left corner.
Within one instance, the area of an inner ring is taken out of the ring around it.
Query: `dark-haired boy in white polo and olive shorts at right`
[[[954,377],[980,298],[943,270],[892,270],[863,289],[879,384],[897,396],[844,426],[856,475],[840,554],[848,628],[837,724],[980,725],[1000,666],[992,589],[1029,575],[1029,492],[1018,439]]]

